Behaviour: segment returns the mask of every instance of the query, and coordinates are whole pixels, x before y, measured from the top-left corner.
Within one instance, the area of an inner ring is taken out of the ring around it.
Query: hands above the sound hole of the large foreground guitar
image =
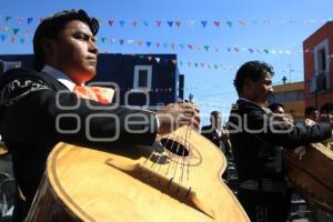
[[[199,130],[199,108],[189,102],[171,103],[157,111],[159,134],[170,133],[182,125]]]

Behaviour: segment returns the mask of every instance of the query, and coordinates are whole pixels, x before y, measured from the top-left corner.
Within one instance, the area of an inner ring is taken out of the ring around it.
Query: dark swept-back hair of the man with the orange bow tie
[[[88,13],[80,10],[63,10],[52,17],[46,18],[37,28],[33,36],[33,54],[36,70],[41,70],[44,65],[44,52],[41,47],[42,39],[57,39],[64,26],[72,21],[80,20],[87,23],[93,36],[99,31],[99,22],[95,18],[90,18]]]

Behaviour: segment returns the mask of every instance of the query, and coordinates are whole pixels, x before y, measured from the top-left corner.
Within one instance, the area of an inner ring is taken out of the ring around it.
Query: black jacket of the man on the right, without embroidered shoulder
[[[280,175],[265,168],[276,147],[294,149],[332,134],[329,123],[305,127],[274,122],[264,109],[243,99],[238,100],[232,109],[228,128],[240,181],[262,178],[281,180]]]

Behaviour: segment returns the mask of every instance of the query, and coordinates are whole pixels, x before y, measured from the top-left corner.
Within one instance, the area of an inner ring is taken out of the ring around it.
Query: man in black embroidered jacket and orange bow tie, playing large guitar
[[[157,133],[199,125],[199,110],[191,103],[169,104],[154,113],[111,107],[110,89],[84,88],[95,75],[98,30],[98,20],[83,10],[56,13],[36,30],[36,70],[16,69],[1,77],[0,133],[12,154],[19,189],[13,221],[27,215],[48,154],[58,142],[87,147],[151,144]],[[90,117],[94,118],[87,123]],[[118,137],[103,144],[88,134],[104,140]]]

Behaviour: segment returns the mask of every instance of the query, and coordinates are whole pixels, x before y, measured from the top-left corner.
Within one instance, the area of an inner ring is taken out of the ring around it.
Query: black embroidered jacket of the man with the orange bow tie
[[[140,115],[131,120],[142,123],[131,125],[131,130],[141,130],[140,134],[128,132],[124,127],[127,117],[134,113]],[[104,118],[100,117],[103,114]],[[90,133],[94,138],[119,133],[118,139],[103,143],[89,140],[85,132],[89,117],[94,117],[90,119]],[[12,155],[16,181],[27,199],[17,204],[16,221],[27,214],[46,160],[58,142],[85,147],[151,144],[157,131],[153,112],[79,99],[54,78],[34,70],[14,69],[3,73],[0,78],[0,134]]]

